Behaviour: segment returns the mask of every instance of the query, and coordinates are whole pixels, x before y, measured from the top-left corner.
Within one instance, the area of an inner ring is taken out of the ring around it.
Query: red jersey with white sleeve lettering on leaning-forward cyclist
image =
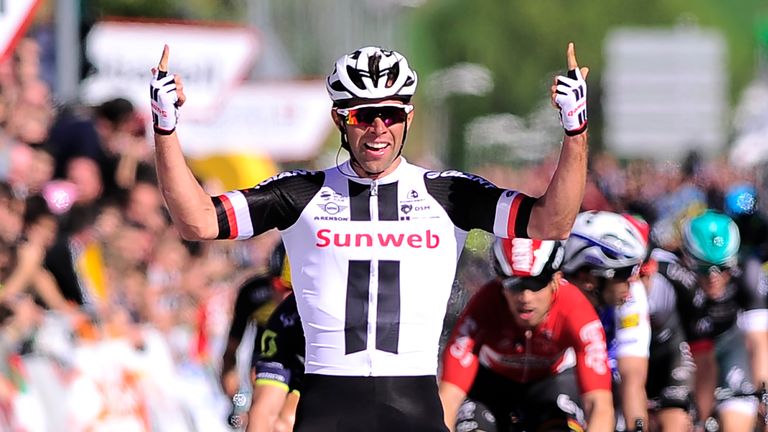
[[[581,393],[611,389],[605,332],[592,304],[563,280],[543,323],[515,323],[499,281],[470,300],[454,327],[442,381],[469,393],[479,367],[528,383],[576,368]]]

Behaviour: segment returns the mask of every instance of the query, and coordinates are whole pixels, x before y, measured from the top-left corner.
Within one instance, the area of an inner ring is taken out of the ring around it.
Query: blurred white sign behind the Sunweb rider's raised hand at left
[[[150,69],[157,67],[165,44],[170,47],[169,72],[184,80],[188,97],[184,116],[192,119],[216,115],[247,76],[259,51],[258,35],[247,27],[99,22],[86,38],[86,57],[96,73],[83,81],[82,100],[98,104],[124,97],[148,112]]]

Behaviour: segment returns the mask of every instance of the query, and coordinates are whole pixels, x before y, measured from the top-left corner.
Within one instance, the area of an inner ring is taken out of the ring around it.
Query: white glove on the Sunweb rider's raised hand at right
[[[578,135],[587,129],[587,82],[579,68],[569,70],[568,76],[557,77],[555,103],[566,135]]]

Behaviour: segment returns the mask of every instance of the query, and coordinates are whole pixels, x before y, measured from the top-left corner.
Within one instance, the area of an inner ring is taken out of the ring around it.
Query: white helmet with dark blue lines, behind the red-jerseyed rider
[[[587,268],[605,278],[628,278],[646,257],[648,242],[629,215],[587,211],[576,217],[565,242],[563,272]]]

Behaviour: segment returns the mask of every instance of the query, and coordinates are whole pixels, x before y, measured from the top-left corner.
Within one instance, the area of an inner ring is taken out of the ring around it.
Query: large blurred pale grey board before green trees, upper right
[[[698,27],[617,28],[606,36],[606,147],[625,158],[681,160],[727,142],[725,37]]]

